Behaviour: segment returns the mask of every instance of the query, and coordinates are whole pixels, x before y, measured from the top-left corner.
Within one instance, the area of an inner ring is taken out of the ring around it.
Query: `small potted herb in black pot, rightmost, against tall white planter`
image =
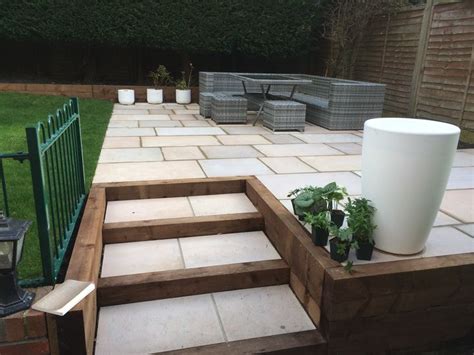
[[[354,240],[357,242],[356,256],[359,260],[372,259],[374,251],[373,233],[376,226],[372,219],[375,207],[366,198],[356,198],[346,205],[347,225],[352,230]]]

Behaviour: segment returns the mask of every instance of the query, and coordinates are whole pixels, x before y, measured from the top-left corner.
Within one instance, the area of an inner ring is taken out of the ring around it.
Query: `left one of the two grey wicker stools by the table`
[[[217,93],[211,98],[211,118],[216,123],[247,123],[247,100]]]

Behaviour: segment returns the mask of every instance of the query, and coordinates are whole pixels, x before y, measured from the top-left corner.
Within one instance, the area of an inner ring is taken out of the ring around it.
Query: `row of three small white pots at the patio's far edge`
[[[174,81],[170,72],[164,65],[159,65],[156,70],[149,73],[150,79],[153,81],[154,88],[146,90],[146,98],[149,104],[163,103],[163,87],[171,84],[176,85],[176,103],[191,103],[191,78],[193,73],[193,65],[189,65],[189,75],[186,78],[184,71],[181,72],[181,78]],[[135,103],[135,90],[121,89],[118,90],[118,101],[122,105],[133,105]]]

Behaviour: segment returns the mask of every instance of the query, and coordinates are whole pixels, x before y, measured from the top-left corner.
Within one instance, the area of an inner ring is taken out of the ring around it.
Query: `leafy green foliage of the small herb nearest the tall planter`
[[[373,243],[372,235],[376,225],[372,219],[375,213],[375,207],[370,204],[366,198],[356,198],[346,205],[347,224],[353,231],[354,239],[359,242]]]

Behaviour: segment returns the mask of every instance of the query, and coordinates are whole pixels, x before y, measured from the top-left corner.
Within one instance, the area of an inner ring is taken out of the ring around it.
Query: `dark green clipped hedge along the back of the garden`
[[[0,40],[291,55],[309,50],[320,0],[0,0]]]

